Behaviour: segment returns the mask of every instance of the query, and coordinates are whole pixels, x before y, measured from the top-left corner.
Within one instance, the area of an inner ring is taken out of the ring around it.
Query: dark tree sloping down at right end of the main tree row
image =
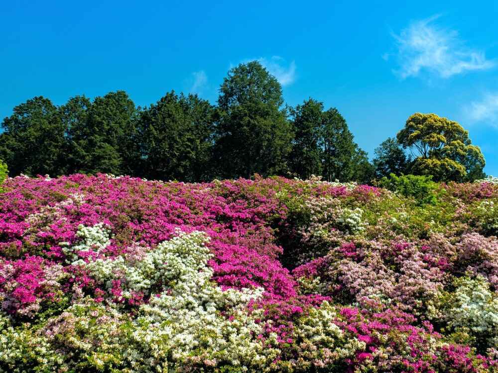
[[[366,182],[372,174],[367,153],[353,140],[346,120],[336,108],[323,113],[319,146],[325,180]]]

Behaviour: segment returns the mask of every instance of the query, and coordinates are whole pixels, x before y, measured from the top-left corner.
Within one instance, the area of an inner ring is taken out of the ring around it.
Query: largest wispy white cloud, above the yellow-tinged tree
[[[386,53],[382,58],[395,57],[399,64],[399,68],[394,70],[396,75],[406,79],[426,72],[450,78],[496,65],[496,61],[488,60],[483,51],[466,47],[456,30],[438,25],[438,18],[436,15],[413,21],[399,34],[392,34],[396,53]]]

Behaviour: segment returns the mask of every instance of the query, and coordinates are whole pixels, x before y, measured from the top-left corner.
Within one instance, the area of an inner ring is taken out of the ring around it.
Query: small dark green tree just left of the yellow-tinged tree
[[[390,174],[398,176],[405,174],[409,167],[409,158],[397,140],[392,137],[384,140],[373,153],[375,154],[373,167],[375,177],[378,179],[388,177]]]

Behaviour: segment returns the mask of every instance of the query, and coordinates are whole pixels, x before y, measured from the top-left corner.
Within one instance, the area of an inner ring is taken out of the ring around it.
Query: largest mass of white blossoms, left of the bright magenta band
[[[147,254],[142,262],[148,263],[148,269],[167,263],[157,270],[168,287],[140,307],[142,316],[133,336],[137,342],[161,346],[159,355],[169,353],[175,362],[208,359],[208,365],[264,366],[276,351],[264,349],[255,338],[262,328],[246,311],[248,302],[258,299],[263,290],[222,290],[212,282],[206,242],[202,232],[180,233]],[[140,266],[137,273],[139,279]]]

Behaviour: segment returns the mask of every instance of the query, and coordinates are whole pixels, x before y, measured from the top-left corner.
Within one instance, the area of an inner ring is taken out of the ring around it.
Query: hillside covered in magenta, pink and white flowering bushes
[[[498,372],[497,180],[390,189],[7,179],[0,371]]]

